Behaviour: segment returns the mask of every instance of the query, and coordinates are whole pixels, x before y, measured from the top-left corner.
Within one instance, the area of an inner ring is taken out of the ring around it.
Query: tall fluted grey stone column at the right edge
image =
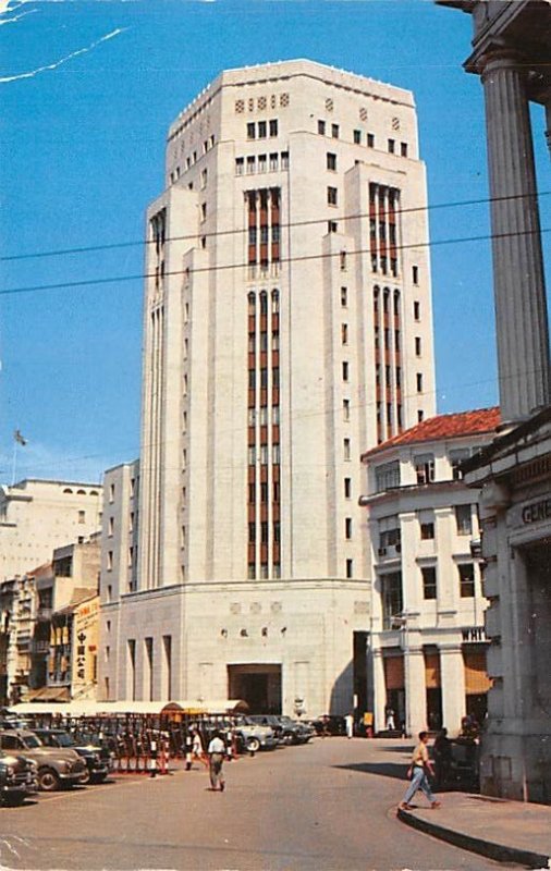
[[[521,60],[483,59],[500,405],[518,421],[551,402],[534,146]]]

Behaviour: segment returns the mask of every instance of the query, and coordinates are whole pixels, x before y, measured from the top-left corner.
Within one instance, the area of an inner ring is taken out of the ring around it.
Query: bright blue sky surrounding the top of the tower
[[[224,68],[310,58],[414,91],[429,203],[488,196],[470,17],[431,0],[0,0],[3,256],[138,242],[162,189],[170,122]],[[44,69],[50,68],[50,69]],[[540,191],[551,188],[536,108]],[[541,197],[551,226],[551,197]],[[489,233],[488,204],[432,208],[433,243]],[[544,236],[549,238],[549,236]],[[438,409],[497,402],[489,241],[434,244]],[[4,260],[0,481],[99,479],[139,451],[139,245]]]

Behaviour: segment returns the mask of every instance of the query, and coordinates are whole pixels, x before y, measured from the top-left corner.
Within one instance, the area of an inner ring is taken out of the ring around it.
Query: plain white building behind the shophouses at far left
[[[101,499],[96,483],[29,478],[0,486],[0,580],[23,577],[54,548],[97,532]]]

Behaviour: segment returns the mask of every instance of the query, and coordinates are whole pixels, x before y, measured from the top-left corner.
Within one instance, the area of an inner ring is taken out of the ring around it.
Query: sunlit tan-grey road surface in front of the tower
[[[42,794],[0,809],[0,863],[29,870],[502,868],[396,820],[407,750],[402,741],[318,738],[226,763],[224,793],[210,792],[197,766]]]

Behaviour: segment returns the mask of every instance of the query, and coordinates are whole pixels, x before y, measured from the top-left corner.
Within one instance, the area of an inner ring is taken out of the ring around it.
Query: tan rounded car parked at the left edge
[[[45,747],[37,735],[26,729],[0,732],[0,749],[36,762],[38,788],[44,792],[75,786],[86,774],[86,763],[75,750]]]

